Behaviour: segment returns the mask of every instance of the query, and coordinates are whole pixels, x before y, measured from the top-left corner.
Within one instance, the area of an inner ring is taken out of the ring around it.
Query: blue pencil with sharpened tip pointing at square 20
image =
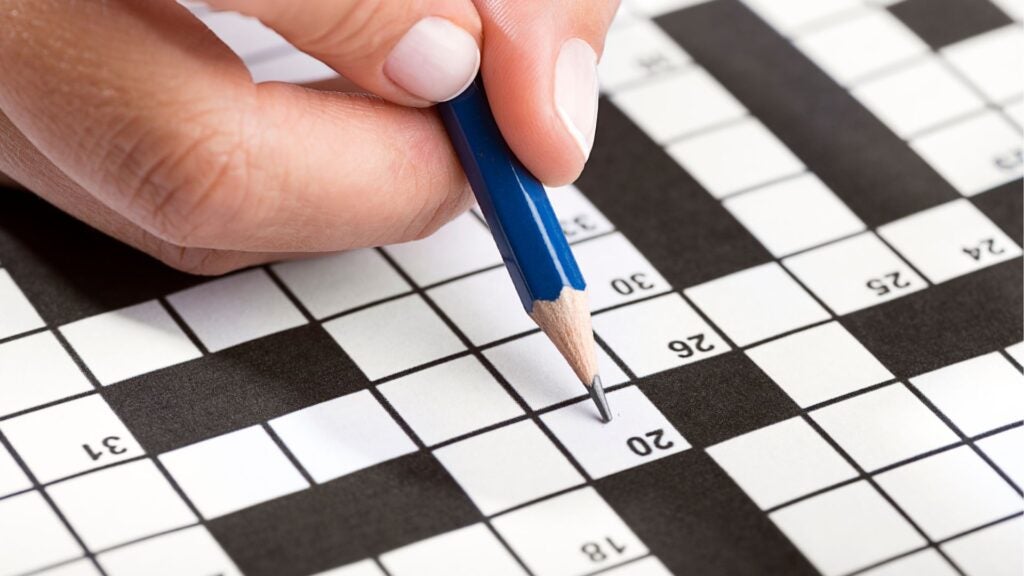
[[[479,77],[438,110],[522,306],[589,388],[607,422],[611,412],[597,373],[587,284],[544,186],[509,150]]]

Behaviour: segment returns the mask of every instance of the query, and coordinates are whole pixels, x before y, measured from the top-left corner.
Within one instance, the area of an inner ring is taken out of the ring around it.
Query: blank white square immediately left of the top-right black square
[[[884,9],[867,9],[856,17],[817,28],[801,36],[796,44],[846,86],[929,51],[918,35]]]

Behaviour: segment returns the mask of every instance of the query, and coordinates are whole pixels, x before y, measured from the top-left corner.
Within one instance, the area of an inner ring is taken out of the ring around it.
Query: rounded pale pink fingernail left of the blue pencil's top
[[[430,16],[416,23],[395,44],[384,74],[409,93],[432,102],[466,89],[480,69],[476,40],[452,22]]]

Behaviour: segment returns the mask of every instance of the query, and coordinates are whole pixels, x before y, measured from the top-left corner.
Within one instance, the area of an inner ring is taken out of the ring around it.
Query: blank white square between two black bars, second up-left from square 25
[[[790,149],[753,118],[680,140],[666,150],[715,198],[804,170]]]

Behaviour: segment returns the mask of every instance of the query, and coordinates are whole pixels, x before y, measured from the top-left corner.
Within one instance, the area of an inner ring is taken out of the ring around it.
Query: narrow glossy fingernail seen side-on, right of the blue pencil
[[[555,108],[583,157],[588,158],[597,124],[597,54],[579,38],[566,40],[558,52]]]

